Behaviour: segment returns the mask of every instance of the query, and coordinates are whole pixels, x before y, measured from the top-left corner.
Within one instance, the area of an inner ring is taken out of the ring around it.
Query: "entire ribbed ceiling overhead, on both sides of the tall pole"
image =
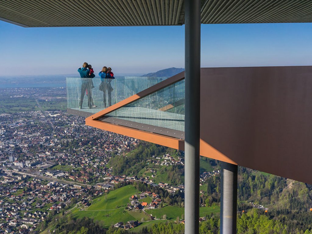
[[[311,0],[202,0],[202,23],[312,22]],[[182,25],[184,0],[0,0],[23,27]]]

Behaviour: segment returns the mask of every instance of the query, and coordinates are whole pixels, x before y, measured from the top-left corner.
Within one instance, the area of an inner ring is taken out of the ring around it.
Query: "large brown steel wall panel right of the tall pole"
[[[203,156],[312,183],[311,66],[203,68],[200,117]]]

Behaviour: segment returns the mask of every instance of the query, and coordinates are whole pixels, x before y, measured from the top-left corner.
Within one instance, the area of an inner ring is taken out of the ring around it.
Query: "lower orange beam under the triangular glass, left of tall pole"
[[[160,144],[160,145],[167,146],[173,149],[184,150],[183,139],[168,137],[168,136],[164,136],[164,135],[160,135],[156,133],[150,133],[150,132],[133,129],[129,127],[124,127],[124,126],[120,126],[116,124],[105,123],[103,121],[93,120],[90,118],[87,118],[85,120],[85,124],[91,127],[98,128],[98,129],[118,133],[121,135],[152,142],[155,144]]]

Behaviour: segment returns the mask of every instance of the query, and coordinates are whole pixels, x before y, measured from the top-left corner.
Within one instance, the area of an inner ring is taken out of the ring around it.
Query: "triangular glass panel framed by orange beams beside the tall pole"
[[[184,102],[181,80],[106,116],[184,132]]]

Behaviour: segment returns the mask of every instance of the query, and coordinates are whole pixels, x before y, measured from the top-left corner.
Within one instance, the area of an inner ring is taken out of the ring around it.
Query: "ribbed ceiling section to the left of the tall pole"
[[[0,18],[26,27],[182,25],[183,0],[0,0]]]

